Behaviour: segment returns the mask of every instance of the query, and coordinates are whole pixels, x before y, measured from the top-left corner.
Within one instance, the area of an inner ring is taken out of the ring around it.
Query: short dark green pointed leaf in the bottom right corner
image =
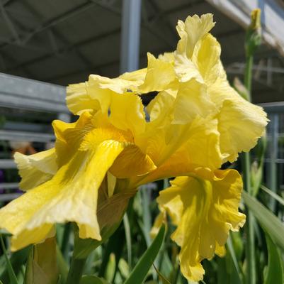
[[[268,266],[264,275],[264,284],[282,284],[284,283],[283,260],[279,249],[267,233],[266,244],[268,250]]]

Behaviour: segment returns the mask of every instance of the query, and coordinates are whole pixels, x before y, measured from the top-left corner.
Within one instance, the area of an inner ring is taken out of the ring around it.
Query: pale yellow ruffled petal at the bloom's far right
[[[212,96],[223,97],[220,113],[217,115],[220,131],[220,148],[227,158],[233,162],[239,152],[248,152],[256,146],[257,140],[263,136],[267,125],[267,116],[261,107],[247,102],[239,96],[229,83],[215,84]]]

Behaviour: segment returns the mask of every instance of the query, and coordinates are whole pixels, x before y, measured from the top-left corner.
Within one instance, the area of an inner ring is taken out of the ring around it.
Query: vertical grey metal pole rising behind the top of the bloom
[[[139,67],[141,0],[123,0],[120,72]]]

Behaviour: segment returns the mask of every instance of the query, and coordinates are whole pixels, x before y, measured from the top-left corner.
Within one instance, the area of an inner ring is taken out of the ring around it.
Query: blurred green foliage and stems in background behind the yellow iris
[[[244,84],[234,87],[250,99],[251,72],[256,48],[261,43],[260,11],[252,14],[251,26],[246,32],[246,67]],[[1,119],[2,121],[3,119]],[[1,123],[1,122],[0,122]],[[276,188],[276,180],[263,183],[263,165],[266,156],[266,137],[261,138],[251,153],[242,160],[226,165],[243,174],[244,192],[242,211],[247,220],[242,229],[230,233],[225,257],[215,256],[203,261],[207,284],[282,284],[284,251],[284,199]],[[276,143],[283,143],[281,138]],[[275,179],[275,175],[271,178]],[[180,273],[179,248],[171,241],[174,231],[171,222],[162,226],[155,239],[150,231],[158,214],[155,201],[159,190],[169,186],[161,180],[143,186],[132,198],[123,222],[106,243],[93,251],[86,261],[81,284],[89,283],[188,283]],[[74,248],[73,224],[58,224],[56,239],[29,246],[16,253],[9,252],[9,236],[1,233],[1,283],[65,283]]]

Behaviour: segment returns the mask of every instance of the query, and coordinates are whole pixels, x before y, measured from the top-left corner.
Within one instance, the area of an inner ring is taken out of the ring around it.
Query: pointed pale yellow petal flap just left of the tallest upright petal
[[[151,53],[147,53],[148,67],[144,84],[139,89],[142,93],[153,91],[164,91],[176,80],[174,66],[171,62],[166,62],[159,58],[154,58]]]

